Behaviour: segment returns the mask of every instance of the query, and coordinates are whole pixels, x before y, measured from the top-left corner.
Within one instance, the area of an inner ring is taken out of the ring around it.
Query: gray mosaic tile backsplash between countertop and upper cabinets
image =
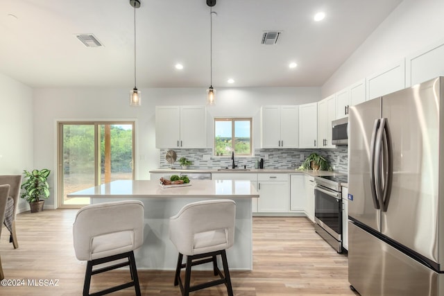
[[[160,149],[160,168],[170,168],[170,164],[165,159],[168,149]],[[186,157],[193,164],[191,169],[205,168],[225,168],[232,166],[231,157],[220,157],[212,155],[213,150],[209,149],[176,149],[177,160],[173,168],[180,168],[180,157]],[[305,157],[310,153],[316,152],[324,156],[330,163],[334,171],[346,173],[348,171],[348,150],[347,146],[338,146],[333,149],[255,149],[254,157],[237,157],[234,160],[237,166],[255,168],[257,159],[264,159],[265,168],[298,168]],[[203,159],[204,155],[206,158]],[[268,159],[267,158],[268,155]],[[302,155],[302,160],[301,160]]]

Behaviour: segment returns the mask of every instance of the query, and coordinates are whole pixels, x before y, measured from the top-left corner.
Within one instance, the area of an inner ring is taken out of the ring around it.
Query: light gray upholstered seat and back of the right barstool
[[[233,200],[192,202],[170,218],[169,237],[187,256],[226,250],[234,244],[235,215]]]

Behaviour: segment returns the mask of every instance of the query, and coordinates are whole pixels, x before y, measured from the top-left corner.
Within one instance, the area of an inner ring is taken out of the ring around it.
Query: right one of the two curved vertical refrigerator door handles
[[[387,119],[382,119],[384,121],[383,124],[383,132],[384,137],[382,137],[382,147],[384,149],[384,156],[385,156],[385,162],[383,166],[382,173],[386,174],[385,182],[384,182],[384,190],[382,191],[382,201],[381,201],[381,208],[382,211],[387,211],[388,208],[388,202],[390,201],[390,193],[391,193],[391,184],[393,181],[393,149],[392,149],[392,143],[391,143],[391,134],[390,129],[388,128],[388,121]]]

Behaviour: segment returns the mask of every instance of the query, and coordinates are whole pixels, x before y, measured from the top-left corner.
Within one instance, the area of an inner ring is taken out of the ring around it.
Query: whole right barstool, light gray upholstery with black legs
[[[179,252],[174,286],[180,285],[183,296],[220,284],[227,286],[229,296],[233,295],[225,250],[234,244],[235,215],[233,200],[204,200],[185,205],[170,218],[169,237]],[[183,255],[187,256],[186,263],[182,263]],[[221,255],[224,275],[217,266],[217,255]],[[221,279],[190,286],[191,266],[203,263],[213,263],[214,275]],[[182,268],[185,284],[180,278]]]

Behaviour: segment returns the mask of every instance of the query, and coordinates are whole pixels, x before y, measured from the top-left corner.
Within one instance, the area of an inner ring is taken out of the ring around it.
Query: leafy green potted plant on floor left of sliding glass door
[[[31,207],[31,213],[43,210],[44,200],[49,198],[49,184],[48,176],[51,171],[47,168],[42,170],[33,170],[24,173],[24,182],[22,183],[22,189],[24,192],[20,195],[21,198],[26,199]]]

